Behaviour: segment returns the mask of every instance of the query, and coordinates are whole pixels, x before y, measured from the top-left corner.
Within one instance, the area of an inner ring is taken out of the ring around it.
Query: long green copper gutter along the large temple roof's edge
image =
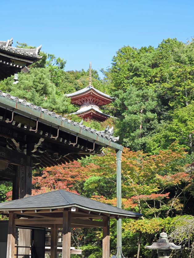
[[[121,150],[121,151],[123,150],[123,146],[118,143],[109,141],[91,132],[85,131],[80,127],[76,127],[75,125],[66,123],[58,118],[44,114],[43,112],[35,110],[31,107],[25,106],[21,103],[17,103],[11,99],[7,99],[5,97],[0,96],[0,106],[7,108],[11,111],[12,109],[14,109],[15,113],[23,115],[27,118],[31,118],[35,120],[38,118],[41,123],[44,123],[46,125],[56,127],[56,128],[59,127],[60,131],[65,131],[75,135],[78,134],[80,138],[83,138],[89,141],[95,141],[95,143],[99,145],[102,145],[105,147],[107,146],[114,150]]]

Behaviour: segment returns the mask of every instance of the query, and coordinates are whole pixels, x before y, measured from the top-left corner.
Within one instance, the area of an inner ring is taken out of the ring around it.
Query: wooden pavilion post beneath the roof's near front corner
[[[63,211],[62,258],[70,258],[71,249],[71,211]]]

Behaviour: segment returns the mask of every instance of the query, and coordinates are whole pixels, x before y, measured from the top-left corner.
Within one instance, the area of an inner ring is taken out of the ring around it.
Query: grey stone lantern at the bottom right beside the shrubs
[[[175,245],[174,243],[169,243],[167,239],[167,233],[160,233],[160,239],[158,242],[152,245],[146,245],[145,248],[151,250],[158,250],[158,258],[170,258],[170,253],[172,250],[180,249],[181,245]]]

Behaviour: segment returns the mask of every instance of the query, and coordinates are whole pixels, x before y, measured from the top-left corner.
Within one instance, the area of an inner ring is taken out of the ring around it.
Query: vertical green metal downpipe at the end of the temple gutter
[[[121,208],[121,154],[122,151],[116,150],[117,157],[117,207]],[[121,247],[122,247],[122,228],[121,228],[121,219],[117,221],[117,251],[118,258],[121,258]]]

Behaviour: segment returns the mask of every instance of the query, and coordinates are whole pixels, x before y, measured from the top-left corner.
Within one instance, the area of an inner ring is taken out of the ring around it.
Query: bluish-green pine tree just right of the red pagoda
[[[152,89],[138,90],[130,85],[126,92],[120,90],[115,96],[114,105],[122,115],[118,122],[119,135],[127,147],[142,149],[145,136],[156,123],[157,115],[153,111],[157,105],[156,94]]]

